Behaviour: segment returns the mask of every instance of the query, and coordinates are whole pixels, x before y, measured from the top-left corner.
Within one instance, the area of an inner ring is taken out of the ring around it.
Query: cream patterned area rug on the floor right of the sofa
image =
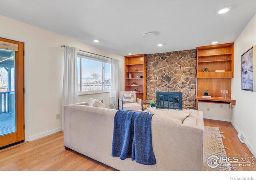
[[[219,127],[204,126],[204,171],[230,171],[231,167],[217,166],[216,168],[210,168],[207,164],[207,159],[211,155],[227,156],[225,148],[222,142],[224,136],[220,133]]]

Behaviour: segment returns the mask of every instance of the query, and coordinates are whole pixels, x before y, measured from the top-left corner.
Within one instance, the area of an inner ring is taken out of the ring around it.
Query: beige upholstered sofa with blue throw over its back
[[[204,122],[201,111],[180,120],[154,115],[152,143],[156,164],[146,166],[130,158],[112,157],[117,110],[87,106],[64,107],[64,146],[117,170],[203,170]]]

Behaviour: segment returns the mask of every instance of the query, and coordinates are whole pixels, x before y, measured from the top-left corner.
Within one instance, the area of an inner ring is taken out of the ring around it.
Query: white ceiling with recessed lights
[[[255,13],[256,0],[0,0],[3,16],[122,55],[234,42]]]

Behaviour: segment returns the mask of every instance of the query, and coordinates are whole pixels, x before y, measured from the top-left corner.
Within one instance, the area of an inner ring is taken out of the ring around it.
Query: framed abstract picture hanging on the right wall
[[[242,54],[242,90],[256,92],[256,46]]]

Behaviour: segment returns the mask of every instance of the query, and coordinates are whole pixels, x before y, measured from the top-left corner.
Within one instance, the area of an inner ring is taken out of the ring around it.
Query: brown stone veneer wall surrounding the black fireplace
[[[146,100],[156,92],[182,92],[183,109],[196,107],[196,49],[146,55]]]

